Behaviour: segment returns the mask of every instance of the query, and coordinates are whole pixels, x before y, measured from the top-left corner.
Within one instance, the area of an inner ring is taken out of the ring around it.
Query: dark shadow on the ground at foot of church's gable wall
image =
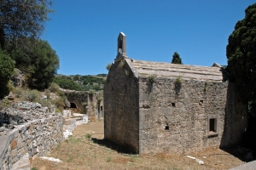
[[[115,144],[112,141],[108,140],[108,139],[96,139],[96,138],[91,138],[91,140],[95,143],[95,144],[100,144],[103,145],[111,150],[115,150],[119,153],[122,154],[137,154],[136,152],[132,151],[130,148],[119,145],[119,144]]]

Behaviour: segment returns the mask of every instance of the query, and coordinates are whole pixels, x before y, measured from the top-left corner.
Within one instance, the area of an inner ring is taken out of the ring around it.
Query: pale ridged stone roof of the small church
[[[224,68],[218,66],[177,65],[163,62],[125,59],[137,77],[182,77],[183,79],[223,81]]]

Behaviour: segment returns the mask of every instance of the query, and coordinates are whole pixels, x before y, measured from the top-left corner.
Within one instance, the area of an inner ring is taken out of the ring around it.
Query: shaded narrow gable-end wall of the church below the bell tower
[[[125,60],[116,61],[104,87],[104,137],[138,151],[138,79]]]

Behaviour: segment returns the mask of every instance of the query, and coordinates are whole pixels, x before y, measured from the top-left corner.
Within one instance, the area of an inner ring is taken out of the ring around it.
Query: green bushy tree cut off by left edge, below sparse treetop
[[[0,99],[9,94],[7,85],[14,68],[14,60],[0,48]]]

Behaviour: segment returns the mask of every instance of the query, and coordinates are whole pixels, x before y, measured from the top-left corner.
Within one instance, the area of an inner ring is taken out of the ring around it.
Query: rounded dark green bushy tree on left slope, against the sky
[[[22,40],[25,39],[25,42]],[[30,47],[28,51],[20,47],[20,43]],[[21,38],[15,48],[10,50],[11,58],[15,60],[16,67],[26,73],[29,88],[44,90],[53,81],[60,61],[55,50],[48,42],[34,38]]]

